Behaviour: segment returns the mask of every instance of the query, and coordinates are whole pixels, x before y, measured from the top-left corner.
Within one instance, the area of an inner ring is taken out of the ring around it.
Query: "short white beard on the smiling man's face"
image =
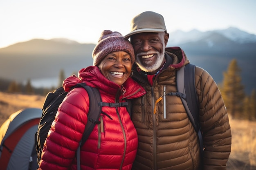
[[[155,64],[153,64],[152,66],[145,66],[144,63],[141,61],[141,58],[138,57],[138,55],[148,55],[147,53],[139,53],[136,55],[136,64],[139,66],[139,68],[144,71],[144,72],[153,72],[156,71],[158,68],[161,67],[161,64],[164,60],[164,50],[162,53],[157,52],[155,55],[157,55],[157,60],[155,62]],[[152,62],[152,61],[151,61]]]

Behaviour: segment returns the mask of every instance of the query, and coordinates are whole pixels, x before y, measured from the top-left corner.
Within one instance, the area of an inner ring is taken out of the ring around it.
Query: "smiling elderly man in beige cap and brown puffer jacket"
[[[204,151],[177,92],[176,73],[189,64],[179,47],[166,48],[169,34],[162,15],[146,11],[135,16],[125,35],[135,51],[133,79],[147,94],[133,102],[132,121],[139,137],[134,170],[226,170],[231,150],[227,110],[213,78],[195,68],[199,124]],[[196,100],[196,99],[195,99]],[[164,110],[166,114],[164,115]]]

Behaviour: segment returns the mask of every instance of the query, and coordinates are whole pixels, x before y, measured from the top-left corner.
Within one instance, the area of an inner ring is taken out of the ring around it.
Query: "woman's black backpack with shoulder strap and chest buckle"
[[[101,114],[102,106],[109,107],[126,107],[128,113],[131,115],[131,101],[127,99],[127,102],[121,103],[106,103],[101,101],[101,95],[97,88],[93,88],[87,86],[85,83],[79,83],[73,88],[85,88],[89,96],[89,112],[88,112],[88,122],[85,126],[85,130],[83,132],[82,140],[79,142],[79,147],[76,150],[76,160],[77,160],[77,169],[80,170],[80,147],[83,146],[85,141],[88,139],[90,133],[92,132],[94,126],[99,124],[99,116]],[[63,87],[59,87],[56,90],[49,92],[45,97],[45,102],[43,104],[43,113],[40,118],[40,122],[38,125],[38,130],[35,133],[35,146],[37,152],[37,161],[41,159],[41,154],[43,150],[43,145],[45,143],[45,139],[47,138],[47,134],[49,129],[51,128],[52,122],[55,119],[55,115],[58,111],[58,106],[61,104],[63,99],[66,97],[67,92],[64,91]]]

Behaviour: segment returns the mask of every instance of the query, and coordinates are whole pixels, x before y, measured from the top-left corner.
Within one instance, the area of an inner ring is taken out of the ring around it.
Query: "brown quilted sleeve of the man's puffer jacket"
[[[207,71],[197,67],[195,82],[203,132],[203,170],[226,170],[231,151],[231,130],[224,101]]]

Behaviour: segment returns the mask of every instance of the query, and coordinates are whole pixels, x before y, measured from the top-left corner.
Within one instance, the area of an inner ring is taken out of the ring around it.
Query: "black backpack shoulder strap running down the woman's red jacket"
[[[76,161],[77,161],[77,170],[81,170],[80,165],[80,148],[83,146],[85,141],[88,139],[89,135],[91,134],[94,126],[99,120],[99,116],[101,114],[101,108],[102,106],[99,106],[99,103],[101,103],[101,95],[99,93],[99,90],[97,88],[93,88],[90,86],[87,86],[85,83],[77,84],[77,87],[83,87],[88,93],[89,96],[89,112],[88,112],[88,121],[85,126],[85,130],[83,132],[82,140],[79,143],[79,147],[76,150]]]

